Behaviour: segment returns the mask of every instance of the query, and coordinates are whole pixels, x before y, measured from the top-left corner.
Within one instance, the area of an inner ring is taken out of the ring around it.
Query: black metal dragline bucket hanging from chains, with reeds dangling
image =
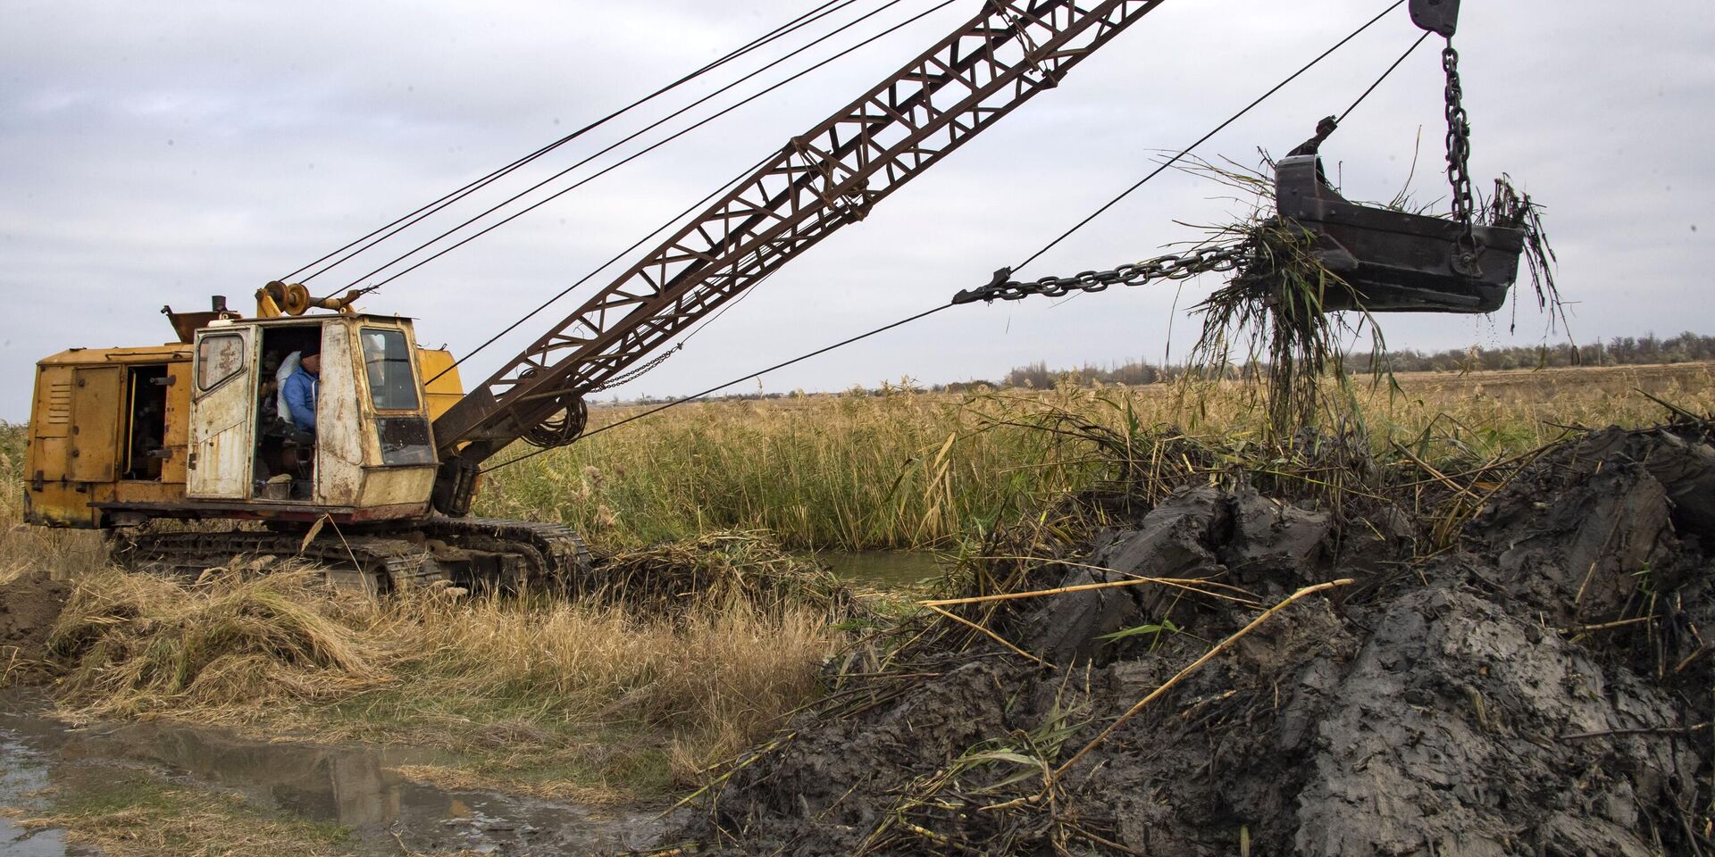
[[[1274,171],[1276,211],[1315,237],[1317,259],[1348,290],[1324,310],[1494,312],[1518,279],[1525,230],[1470,226],[1350,202],[1327,185],[1315,154],[1283,158]]]

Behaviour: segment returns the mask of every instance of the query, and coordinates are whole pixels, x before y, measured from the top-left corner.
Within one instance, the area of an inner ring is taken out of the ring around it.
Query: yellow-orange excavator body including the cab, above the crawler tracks
[[[292,331],[302,329],[324,329],[314,495],[261,497],[254,490],[261,483],[256,463],[262,461],[262,440],[252,437],[259,418],[254,408],[264,396],[261,382],[274,374],[257,365],[256,345],[269,338],[297,343],[304,336]],[[429,420],[458,401],[463,389],[453,355],[413,348],[408,360],[417,370],[412,379],[417,389],[394,389],[403,398],[382,401],[386,393],[377,384],[386,379],[388,358],[377,348],[388,331],[398,331],[394,339],[403,343],[413,339],[408,321],[357,314],[211,322],[201,329],[204,338],[235,336],[247,345],[237,355],[240,367],[223,379],[197,377],[192,343],[74,348],[43,360],[29,423],[26,518],[91,528],[218,512],[238,518],[328,512],[336,519],[424,514],[436,468]],[[208,389],[199,393],[199,384]],[[206,413],[208,399],[226,387],[232,387],[232,415]],[[244,435],[230,444],[232,461],[216,456],[209,444],[194,454],[190,435],[199,418]],[[233,490],[190,497],[187,476],[206,482],[216,470],[232,478]]]

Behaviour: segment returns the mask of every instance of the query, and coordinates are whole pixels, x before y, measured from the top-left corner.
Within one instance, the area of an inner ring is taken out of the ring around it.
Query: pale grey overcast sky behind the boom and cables
[[[859,0],[772,53],[587,135],[523,183],[882,2]],[[813,5],[0,0],[0,295],[9,303],[0,314],[0,418],[27,417],[36,360],[67,346],[166,341],[163,303],[206,309],[211,293],[223,293],[249,312],[268,279]],[[900,0],[693,115],[933,5]],[[984,283],[1140,178],[1164,149],[1197,139],[1386,5],[1168,0],[1058,89],[784,267],[684,351],[617,393],[693,393]],[[446,343],[463,355],[844,108],[981,7],[955,2],[424,266],[362,307],[412,315],[424,345]],[[1259,147],[1285,153],[1319,117],[1357,98],[1417,34],[1398,10],[1199,154],[1255,163]],[[1487,189],[1509,173],[1549,207],[1576,339],[1715,333],[1710,3],[1629,3],[1617,14],[1616,3],[1597,0],[1466,0],[1456,45],[1475,129],[1473,175]],[[1434,48],[1432,39],[1411,55],[1324,146],[1348,195],[1389,199],[1410,180],[1417,201],[1444,206]],[[1163,175],[1020,274],[1110,267],[1195,240],[1199,230],[1187,225],[1245,211],[1226,194],[1204,178]],[[312,286],[333,291],[382,261],[336,267]],[[991,379],[1032,360],[1159,362],[1170,336],[1178,358],[1195,324],[1185,307],[1214,285],[1194,283],[1178,297],[1154,286],[1062,305],[1038,298],[962,307],[772,374],[763,386]],[[561,314],[551,310],[473,358],[466,384]],[[1533,305],[1521,303],[1516,315],[1516,333],[1511,309],[1384,321],[1393,346],[1564,341]]]

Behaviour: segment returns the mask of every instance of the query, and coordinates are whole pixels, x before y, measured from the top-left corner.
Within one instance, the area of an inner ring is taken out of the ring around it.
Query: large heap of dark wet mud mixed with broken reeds
[[[856,663],[686,836],[743,854],[1715,854],[1708,437],[1590,434],[1422,519],[1401,511],[1420,485],[1341,519],[1180,488],[1024,588],[1231,590],[983,603],[962,615],[1053,667],[988,638]],[[1463,530],[1441,547],[1449,519]],[[1101,737],[1336,578],[1353,583]]]

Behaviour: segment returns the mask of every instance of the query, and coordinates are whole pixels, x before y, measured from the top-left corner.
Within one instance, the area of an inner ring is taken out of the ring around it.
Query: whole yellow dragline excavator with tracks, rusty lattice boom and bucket
[[[250,317],[221,297],[208,312],[163,309],[178,334],[170,345],[72,348],[41,360],[26,518],[106,530],[115,557],[144,567],[197,571],[245,554],[307,555],[336,579],[377,591],[441,579],[576,581],[588,554],[569,530],[468,518],[485,461],[516,440],[573,442],[585,427],[587,393],[863,219],[1161,2],[981,0],[952,34],[792,137],[468,391],[449,353],[417,345],[412,321],[367,315],[350,295],[312,298],[305,286],[278,281],[256,293]],[[1439,21],[1451,36],[1456,5],[1411,0],[1411,14],[1425,29]],[[1309,178],[1291,194],[1305,218],[1327,221],[1309,228],[1350,245],[1341,252],[1374,271],[1389,269],[1377,238],[1434,233],[1403,264],[1410,283],[1372,278],[1377,288],[1410,291],[1398,309],[1492,309],[1492,295],[1471,298],[1482,283],[1458,259],[1449,262],[1449,247],[1468,261],[1480,242],[1506,262],[1513,242],[1511,267],[1487,264],[1483,274],[1511,283],[1516,269],[1516,235],[1453,237],[1446,219],[1413,226],[1396,213],[1363,231],[1363,216],[1382,214],[1345,204]],[[1446,240],[1435,243],[1442,231]],[[276,420],[274,411],[290,411],[276,384],[314,362],[314,415]]]

